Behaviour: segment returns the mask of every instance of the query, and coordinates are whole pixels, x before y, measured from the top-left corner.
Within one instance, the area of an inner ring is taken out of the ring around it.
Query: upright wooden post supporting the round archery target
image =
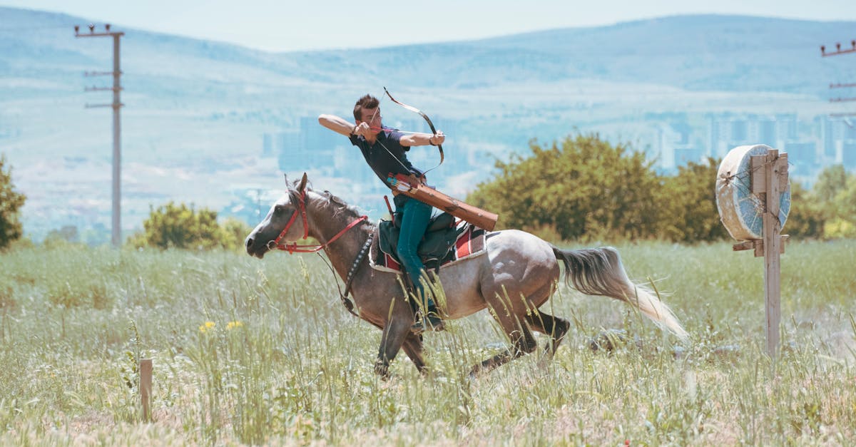
[[[786,164],[787,165],[787,164]],[[766,210],[764,212],[764,305],[767,310],[767,355],[776,358],[779,354],[779,322],[781,309],[781,265],[779,264],[779,200],[782,194],[779,185],[779,151],[767,151],[764,164],[764,183],[766,186]]]

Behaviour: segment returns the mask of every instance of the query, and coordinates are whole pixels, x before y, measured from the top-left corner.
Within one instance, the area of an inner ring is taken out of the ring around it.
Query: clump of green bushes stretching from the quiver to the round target
[[[719,163],[713,158],[661,177],[643,153],[596,134],[530,149],[528,158],[496,162],[499,174],[467,197],[498,213],[506,228],[550,240],[696,242],[727,235],[716,210]]]

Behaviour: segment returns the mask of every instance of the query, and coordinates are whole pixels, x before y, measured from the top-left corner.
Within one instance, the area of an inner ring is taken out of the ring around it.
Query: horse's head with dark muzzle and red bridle
[[[301,213],[306,211],[306,204],[304,203],[308,191],[306,173],[303,174],[297,188],[288,182],[286,184],[288,185],[286,194],[276,200],[270,207],[265,219],[256,225],[256,228],[244,241],[247,254],[261,259],[278,243],[294,242],[300,238],[306,238],[308,232],[306,220],[301,217]]]

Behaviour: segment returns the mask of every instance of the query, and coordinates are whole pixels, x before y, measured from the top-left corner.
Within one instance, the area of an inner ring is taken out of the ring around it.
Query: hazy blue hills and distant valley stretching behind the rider
[[[25,228],[33,233],[109,223],[110,109],[83,105],[109,102],[110,93],[83,88],[109,86],[110,77],[83,73],[109,70],[112,51],[110,39],[74,38],[74,25],[87,33],[89,22],[0,7],[0,152],[29,197]],[[166,200],[223,209],[246,200],[249,188],[280,188],[281,171],[306,170],[306,160],[261,158],[263,134],[304,132],[322,112],[347,117],[355,98],[380,96],[382,86],[452,130],[447,156],[457,152],[479,164],[471,169],[478,175],[463,180],[444,177],[456,175],[445,165],[437,170],[440,185],[450,191],[459,185],[463,194],[490,170],[490,154],[525,150],[532,138],[583,130],[645,146],[657,139],[657,126],[669,122],[657,116],[680,116],[681,122],[670,122],[693,129],[700,141],[706,113],[824,114],[829,82],[856,80],[856,55],[820,56],[820,45],[856,37],[856,22],[843,21],[686,15],[494,39],[286,53],[113,27],[126,33],[128,229],[139,226],[150,205]],[[389,124],[409,127],[418,120],[382,106]],[[331,157],[324,152],[330,149],[318,147],[323,157]],[[316,180],[342,181],[323,176],[318,171]],[[360,188],[350,189],[335,192],[359,202],[348,194]]]

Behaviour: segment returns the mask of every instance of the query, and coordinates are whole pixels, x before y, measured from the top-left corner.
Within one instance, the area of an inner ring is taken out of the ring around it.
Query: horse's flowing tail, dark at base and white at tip
[[[665,326],[681,339],[687,331],[663,301],[651,289],[635,284],[627,277],[621,256],[613,247],[562,250],[552,247],[556,259],[565,264],[565,282],[586,295],[604,295],[629,303],[639,311]]]

